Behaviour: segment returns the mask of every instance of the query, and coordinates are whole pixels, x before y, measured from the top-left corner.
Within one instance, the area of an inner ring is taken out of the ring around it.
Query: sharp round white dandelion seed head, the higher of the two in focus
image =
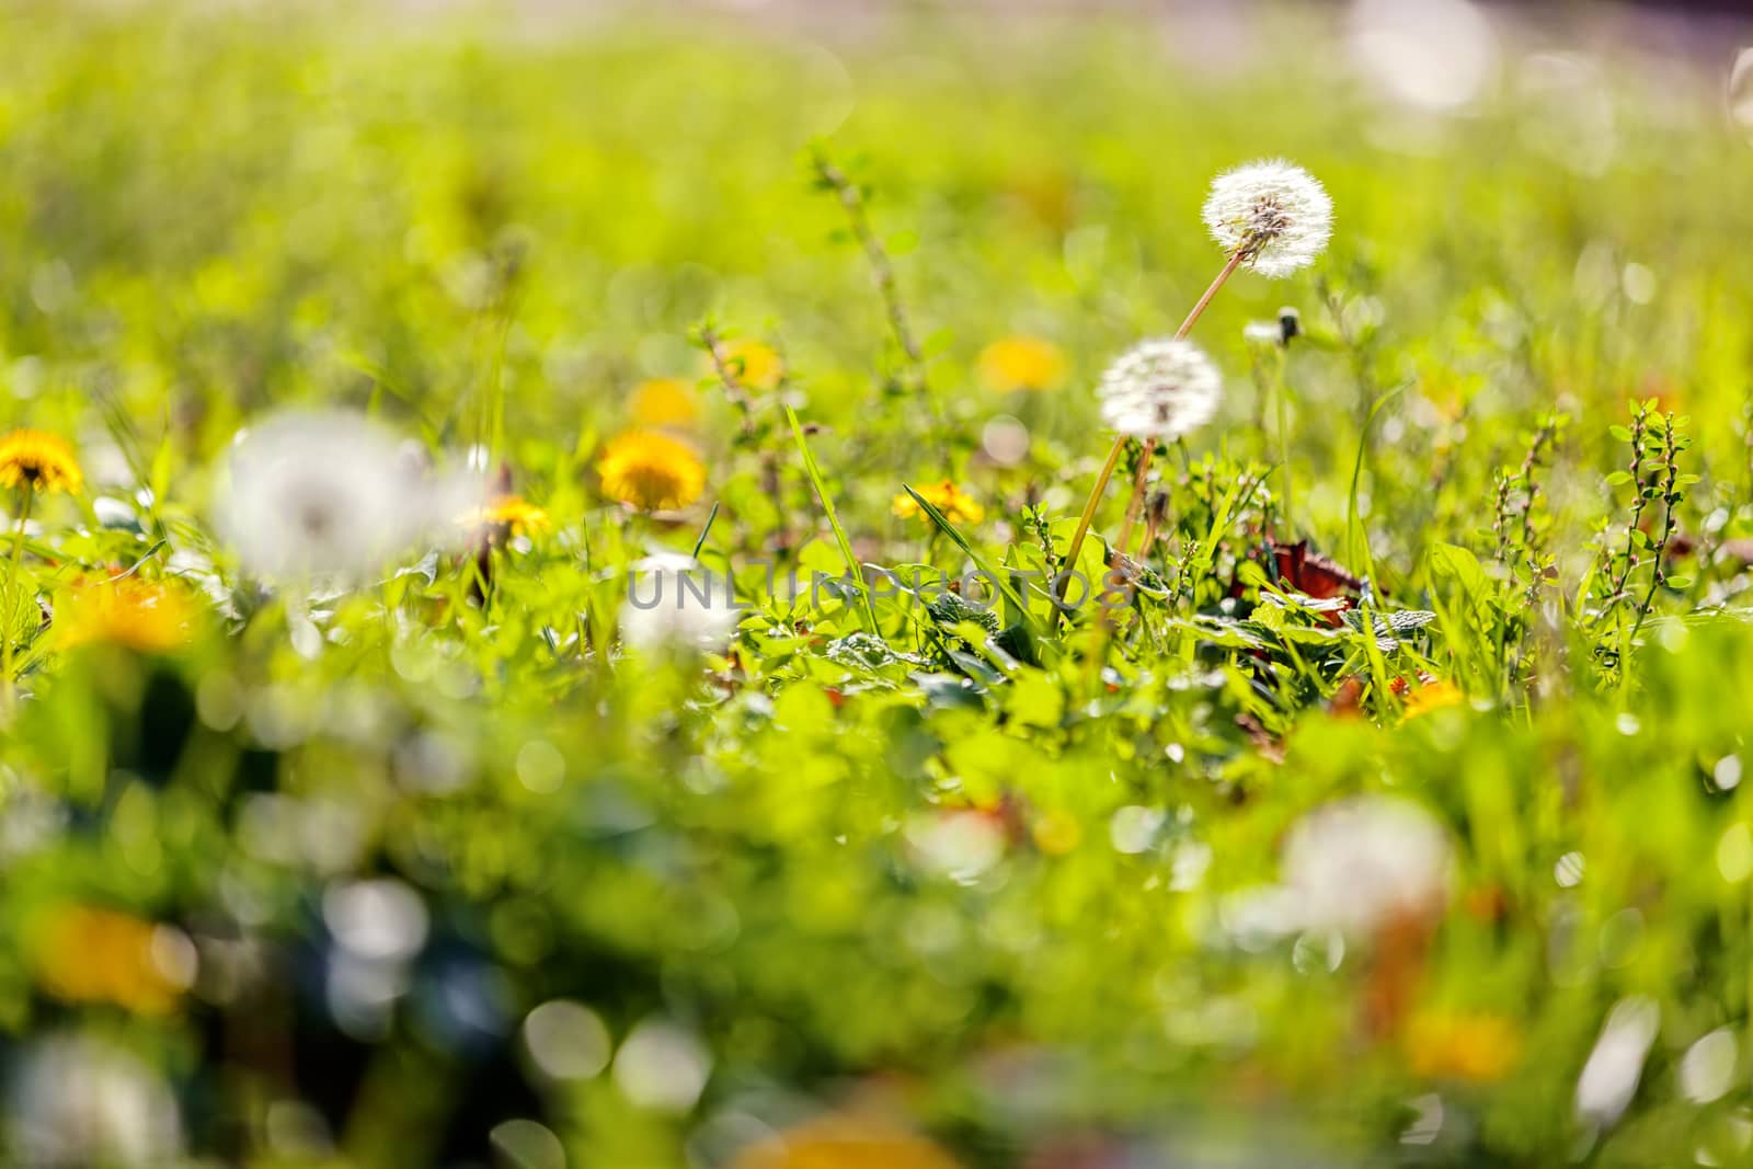
[[[1264,277],[1306,268],[1332,237],[1332,198],[1309,172],[1281,158],[1225,170],[1211,181],[1204,221],[1225,252]]]

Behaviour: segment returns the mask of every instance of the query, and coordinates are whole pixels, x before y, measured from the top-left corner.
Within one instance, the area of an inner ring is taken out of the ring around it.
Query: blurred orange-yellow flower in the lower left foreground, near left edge
[[[174,1011],[193,974],[193,948],[179,931],[82,904],[42,924],[33,957],[53,997],[114,1003],[137,1015]]]

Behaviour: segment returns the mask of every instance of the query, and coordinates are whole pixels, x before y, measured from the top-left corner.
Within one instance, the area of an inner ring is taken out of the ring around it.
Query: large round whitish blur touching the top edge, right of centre
[[[1467,0],[1353,0],[1346,40],[1371,84],[1420,110],[1466,105],[1497,65],[1497,33]]]

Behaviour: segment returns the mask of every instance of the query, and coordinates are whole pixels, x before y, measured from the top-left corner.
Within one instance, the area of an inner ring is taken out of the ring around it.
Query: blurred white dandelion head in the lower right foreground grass
[[[1283,880],[1304,929],[1367,938],[1422,920],[1448,899],[1450,843],[1408,799],[1357,796],[1302,817],[1285,843]]]

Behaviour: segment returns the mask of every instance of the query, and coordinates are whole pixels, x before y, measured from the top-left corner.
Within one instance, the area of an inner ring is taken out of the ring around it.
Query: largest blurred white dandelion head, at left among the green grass
[[[454,535],[477,475],[442,477],[361,414],[289,412],[242,431],[226,457],[219,533],[252,573],[359,577],[415,542]]]

